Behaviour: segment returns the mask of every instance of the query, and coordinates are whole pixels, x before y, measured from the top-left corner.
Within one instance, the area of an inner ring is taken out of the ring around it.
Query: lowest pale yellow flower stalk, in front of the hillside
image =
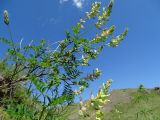
[[[92,117],[88,111],[89,109],[93,109],[95,111],[96,120],[103,120],[103,105],[109,102],[108,97],[110,94],[108,93],[108,89],[112,83],[112,80],[108,80],[102,87],[99,89],[98,94],[94,97],[91,95],[91,98],[84,103],[82,99],[80,100],[80,110],[79,115],[82,117]],[[93,114],[93,113],[92,113]]]

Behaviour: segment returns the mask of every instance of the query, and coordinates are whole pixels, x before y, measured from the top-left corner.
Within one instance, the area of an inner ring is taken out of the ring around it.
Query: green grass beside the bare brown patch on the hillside
[[[160,93],[157,90],[138,89],[130,96],[132,99],[128,103],[116,104],[106,113],[106,120],[160,120]]]

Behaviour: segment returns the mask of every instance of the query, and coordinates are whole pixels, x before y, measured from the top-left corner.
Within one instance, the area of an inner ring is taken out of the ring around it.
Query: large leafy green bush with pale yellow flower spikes
[[[33,41],[28,45],[22,45],[23,41],[15,43],[8,12],[4,11],[4,23],[8,27],[10,38],[0,37],[0,41],[8,45],[7,56],[0,60],[2,120],[66,119],[66,111],[74,98],[101,74],[96,68],[84,76],[80,68],[89,66],[89,61],[96,59],[104,47],[117,47],[127,34],[126,29],[114,37],[115,26],[105,27],[112,6],[111,1],[100,12],[100,3],[93,3],[91,10],[72,27],[72,31],[66,31],[66,38],[52,45],[48,45],[46,40],[41,40],[38,45]],[[90,20],[92,27],[84,29]],[[93,35],[92,39],[84,37],[94,29],[99,34]],[[56,49],[54,45],[57,46]],[[98,120],[102,119],[100,105],[107,101],[105,99],[109,85],[110,82],[107,82],[90,102]]]

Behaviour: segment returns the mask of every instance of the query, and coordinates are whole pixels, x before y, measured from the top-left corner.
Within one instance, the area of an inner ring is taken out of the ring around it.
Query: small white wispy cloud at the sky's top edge
[[[60,4],[64,3],[64,2],[68,2],[71,0],[60,0]],[[72,0],[73,5],[76,6],[77,8],[82,8],[84,5],[85,0]]]

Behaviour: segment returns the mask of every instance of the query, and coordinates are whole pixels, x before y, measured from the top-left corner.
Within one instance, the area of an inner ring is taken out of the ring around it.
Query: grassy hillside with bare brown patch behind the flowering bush
[[[159,88],[113,90],[110,100],[103,108],[104,120],[160,120]],[[94,120],[94,114],[78,118],[77,108],[72,108],[69,120]]]

